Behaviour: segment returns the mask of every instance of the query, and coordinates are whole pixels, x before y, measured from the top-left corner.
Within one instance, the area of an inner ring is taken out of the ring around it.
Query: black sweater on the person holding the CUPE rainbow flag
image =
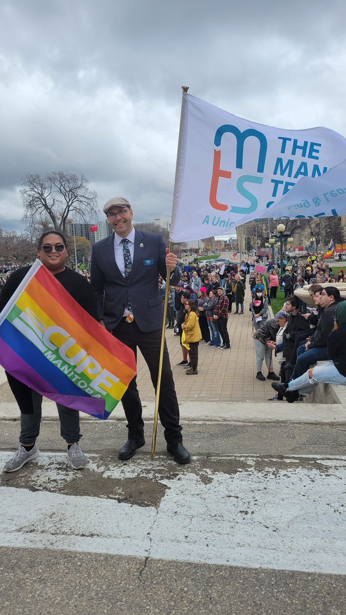
[[[0,295],[0,312],[6,306],[7,301],[10,300],[15,290],[17,290],[20,282],[25,278],[30,267],[22,267],[14,271],[10,277],[6,280],[6,284],[2,288]],[[95,320],[97,320],[97,309],[95,303],[94,293],[92,292],[91,285],[87,282],[84,276],[72,271],[72,269],[65,268],[65,271],[57,273],[54,276],[58,282],[67,290],[68,293],[74,298],[79,305],[85,309]]]

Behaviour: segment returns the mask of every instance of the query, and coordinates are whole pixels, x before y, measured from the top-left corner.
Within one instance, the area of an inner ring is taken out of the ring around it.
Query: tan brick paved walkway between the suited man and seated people
[[[247,278],[248,279],[248,278]],[[175,367],[182,360],[179,336],[167,329],[167,346],[173,367],[175,389],[178,400],[210,402],[264,402],[275,394],[271,381],[260,382],[255,378],[255,352],[252,339],[251,312],[249,303],[251,293],[246,285],[244,315],[232,314],[228,317],[231,350],[221,350],[207,344],[199,344],[198,376],[186,376],[183,367]],[[278,363],[274,358],[273,368],[278,373]],[[267,368],[263,367],[267,376]],[[138,377],[142,402],[155,400],[149,371],[142,355],[138,354]]]

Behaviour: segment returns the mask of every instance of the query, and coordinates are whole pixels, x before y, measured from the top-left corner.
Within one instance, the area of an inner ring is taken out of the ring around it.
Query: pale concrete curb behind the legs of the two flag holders
[[[143,419],[153,420],[155,402],[143,404]],[[0,404],[0,420],[18,421],[20,418],[17,403]],[[287,403],[270,402],[248,403],[217,402],[211,403],[183,402],[180,404],[182,422],[195,423],[310,423],[310,424],[346,424],[346,412],[343,404]],[[58,419],[54,402],[42,404],[42,419]],[[81,413],[82,421],[97,419]],[[120,405],[111,414],[108,421],[125,421],[123,407]]]

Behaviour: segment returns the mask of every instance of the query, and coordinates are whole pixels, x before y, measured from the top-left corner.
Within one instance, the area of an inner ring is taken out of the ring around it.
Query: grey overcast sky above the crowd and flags
[[[238,116],[346,136],[344,0],[1,0],[0,226],[20,178],[83,173],[99,208],[171,215],[181,85]],[[100,218],[103,220],[103,215]]]

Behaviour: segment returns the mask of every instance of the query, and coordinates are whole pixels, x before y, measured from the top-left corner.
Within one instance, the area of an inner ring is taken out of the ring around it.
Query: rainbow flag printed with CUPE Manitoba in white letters
[[[0,364],[44,397],[99,419],[136,373],[134,352],[38,260],[0,314]]]

